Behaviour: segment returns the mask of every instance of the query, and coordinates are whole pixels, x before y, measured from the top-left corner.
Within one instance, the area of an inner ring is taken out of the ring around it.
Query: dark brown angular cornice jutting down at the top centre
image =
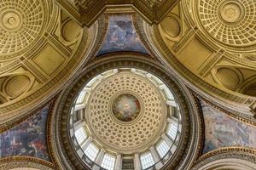
[[[158,24],[177,0],[146,1],[146,0],[107,0],[77,1],[55,0],[61,8],[73,16],[80,26],[91,26],[108,8],[119,8],[119,12],[127,12],[127,8],[137,11],[150,25]]]

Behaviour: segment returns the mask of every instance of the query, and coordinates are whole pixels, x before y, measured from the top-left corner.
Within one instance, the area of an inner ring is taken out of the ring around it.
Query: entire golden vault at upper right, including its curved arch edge
[[[247,114],[255,107],[255,6],[254,1],[183,0],[159,25],[140,27],[163,62],[195,91]]]

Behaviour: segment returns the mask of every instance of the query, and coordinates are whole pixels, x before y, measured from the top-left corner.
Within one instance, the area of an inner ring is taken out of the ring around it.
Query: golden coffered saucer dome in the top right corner
[[[255,5],[253,0],[196,1],[195,17],[216,41],[245,49],[255,45]]]

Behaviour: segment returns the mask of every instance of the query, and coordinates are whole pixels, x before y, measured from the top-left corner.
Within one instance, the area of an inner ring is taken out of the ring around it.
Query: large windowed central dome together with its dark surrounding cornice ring
[[[189,95],[153,59],[98,59],[61,94],[55,153],[69,169],[186,167],[183,160],[201,150],[201,118]]]

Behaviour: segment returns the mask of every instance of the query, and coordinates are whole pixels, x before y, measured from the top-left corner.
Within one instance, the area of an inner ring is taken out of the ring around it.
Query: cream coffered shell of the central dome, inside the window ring
[[[92,81],[96,85],[88,95],[85,118],[99,143],[131,153],[159,137],[167,110],[164,95],[149,77],[123,69]]]

